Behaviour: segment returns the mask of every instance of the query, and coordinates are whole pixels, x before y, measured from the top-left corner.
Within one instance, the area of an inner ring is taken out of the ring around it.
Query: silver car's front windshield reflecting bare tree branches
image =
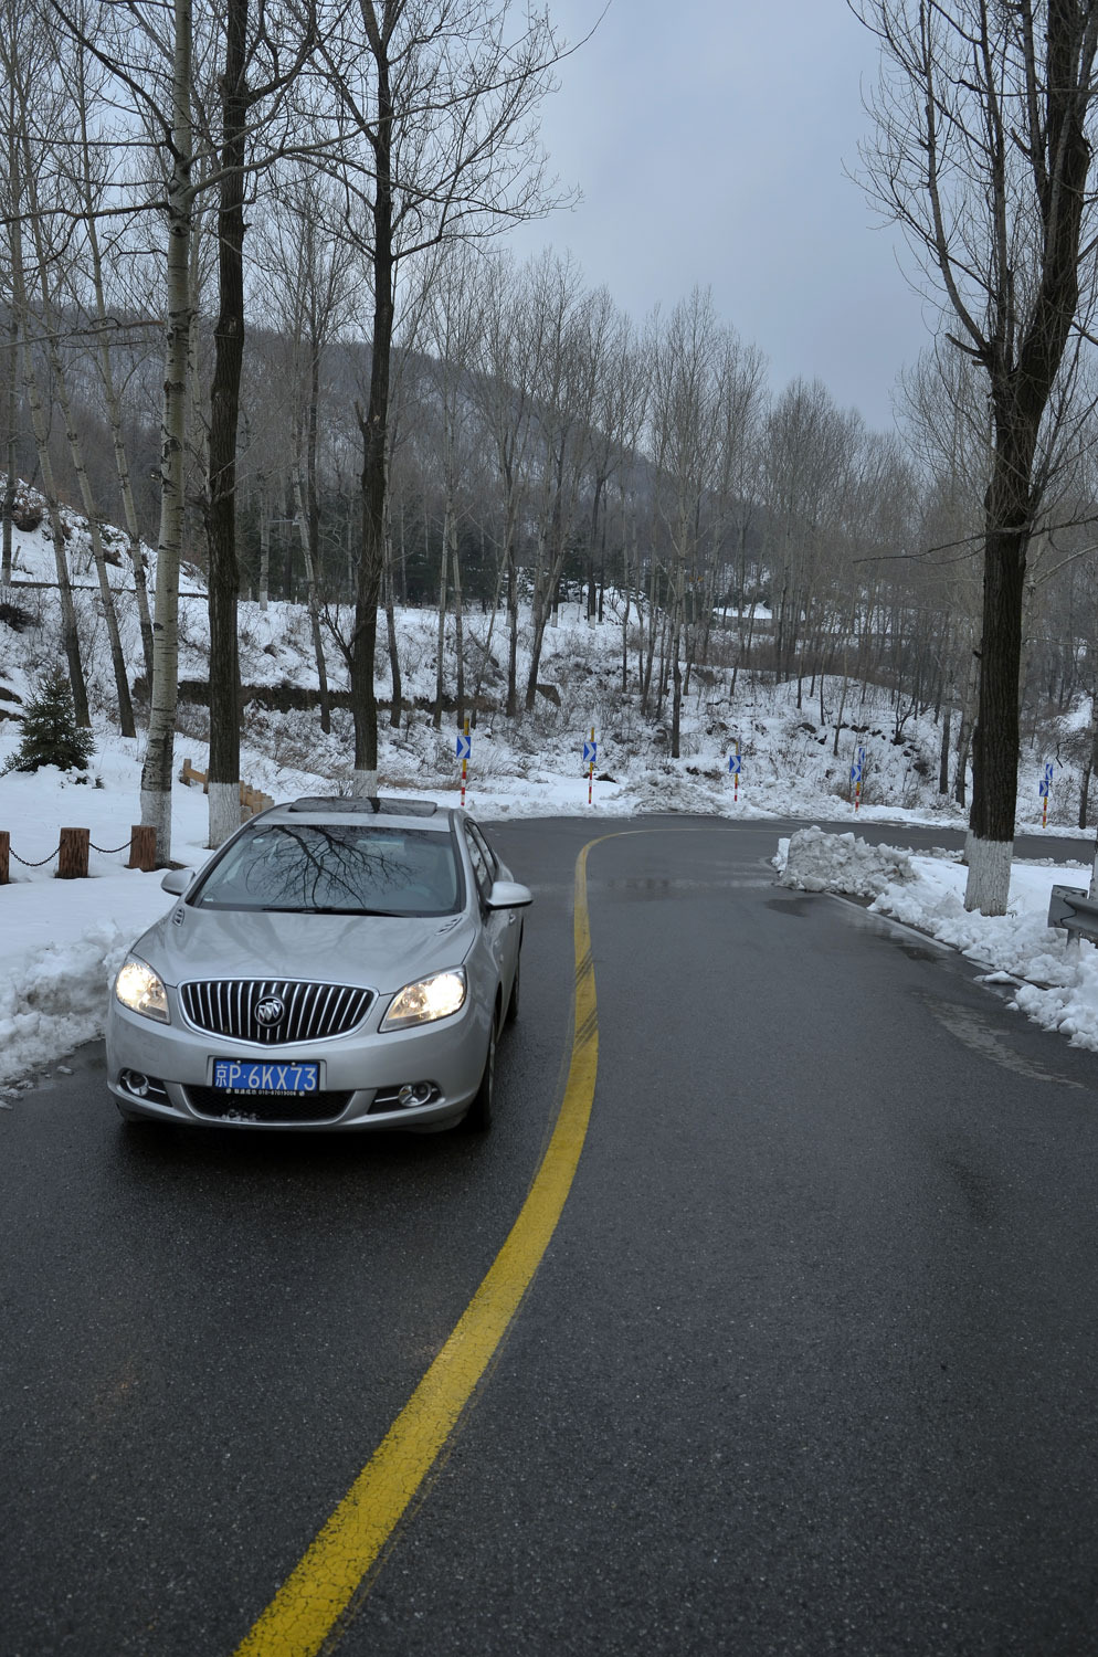
[[[293,915],[454,915],[462,890],[449,833],[272,824],[230,845],[192,901]]]

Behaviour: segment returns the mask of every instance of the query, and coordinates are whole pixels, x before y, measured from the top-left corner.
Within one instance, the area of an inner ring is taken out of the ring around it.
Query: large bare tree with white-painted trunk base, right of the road
[[[1038,434],[1095,300],[1095,0],[851,0],[881,41],[863,149],[942,323],[990,398],[984,621],[966,906],[1002,915],[1019,766],[1027,550],[1047,479]],[[1076,335],[1078,338],[1078,335]]]

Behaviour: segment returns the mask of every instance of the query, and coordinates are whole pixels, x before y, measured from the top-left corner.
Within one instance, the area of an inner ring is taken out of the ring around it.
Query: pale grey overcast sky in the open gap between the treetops
[[[601,0],[553,0],[578,40]],[[542,138],[583,204],[513,232],[570,247],[636,320],[697,283],[770,358],[891,429],[891,393],[929,338],[919,297],[843,172],[869,133],[876,43],[845,0],[613,0],[560,70]]]

